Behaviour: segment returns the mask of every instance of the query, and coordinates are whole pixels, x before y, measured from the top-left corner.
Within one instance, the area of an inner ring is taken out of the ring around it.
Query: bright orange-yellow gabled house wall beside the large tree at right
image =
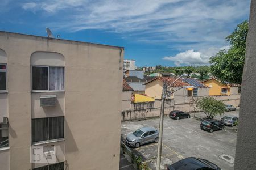
[[[208,80],[207,82],[203,82],[206,86],[210,87],[209,90],[209,95],[210,96],[220,96],[220,95],[230,95],[230,88],[228,88],[228,93],[227,94],[222,94],[221,93],[221,88],[227,88],[228,86],[222,84],[221,82],[218,82],[217,80]]]

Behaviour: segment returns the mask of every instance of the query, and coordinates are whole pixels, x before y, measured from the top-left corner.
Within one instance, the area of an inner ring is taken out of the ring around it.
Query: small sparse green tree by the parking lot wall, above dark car
[[[222,101],[216,100],[213,97],[203,97],[197,99],[199,108],[206,114],[207,118],[214,118],[225,112],[225,105]]]

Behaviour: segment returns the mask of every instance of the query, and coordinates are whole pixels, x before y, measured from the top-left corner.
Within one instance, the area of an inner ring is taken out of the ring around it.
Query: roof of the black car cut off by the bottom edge
[[[209,164],[206,164],[203,160],[200,158],[195,157],[189,157],[182,159],[172,165],[170,165],[170,169],[174,168],[175,170],[195,170],[198,168],[208,167],[212,168]]]

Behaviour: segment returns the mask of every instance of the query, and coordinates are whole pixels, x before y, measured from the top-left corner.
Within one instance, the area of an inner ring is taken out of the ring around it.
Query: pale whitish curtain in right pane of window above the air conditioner
[[[64,67],[49,67],[49,90],[64,90]]]

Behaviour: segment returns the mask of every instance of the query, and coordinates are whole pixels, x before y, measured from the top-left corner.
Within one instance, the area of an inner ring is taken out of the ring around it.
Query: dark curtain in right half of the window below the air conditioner
[[[49,117],[49,139],[64,138],[64,116]]]

